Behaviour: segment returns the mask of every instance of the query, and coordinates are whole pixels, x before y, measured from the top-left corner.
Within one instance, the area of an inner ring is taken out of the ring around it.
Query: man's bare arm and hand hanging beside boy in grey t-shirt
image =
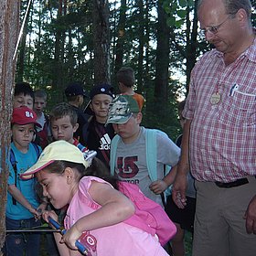
[[[176,179],[172,187],[172,197],[178,208],[186,206],[187,173],[189,170],[188,146],[191,120],[186,120],[183,128],[181,156],[177,164]]]

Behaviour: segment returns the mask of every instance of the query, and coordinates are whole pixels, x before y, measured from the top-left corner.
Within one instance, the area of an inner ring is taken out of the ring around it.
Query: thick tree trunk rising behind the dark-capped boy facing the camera
[[[94,82],[110,83],[109,2],[93,0]]]

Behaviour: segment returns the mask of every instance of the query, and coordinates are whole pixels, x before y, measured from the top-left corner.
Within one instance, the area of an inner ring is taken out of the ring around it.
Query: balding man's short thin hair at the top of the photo
[[[198,0],[197,10],[202,5],[204,0]],[[222,0],[225,5],[228,15],[235,15],[240,9],[244,9],[248,16],[248,20],[251,20],[251,1],[250,0]]]

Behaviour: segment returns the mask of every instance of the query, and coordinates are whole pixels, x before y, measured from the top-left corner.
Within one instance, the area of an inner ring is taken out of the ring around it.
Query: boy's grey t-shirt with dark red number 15
[[[115,173],[120,180],[136,184],[145,197],[163,206],[160,195],[155,195],[149,186],[152,183],[146,163],[145,128],[142,126],[138,137],[130,144],[119,140],[116,149]],[[180,149],[165,133],[156,133],[157,177],[163,179],[165,165],[177,164]]]

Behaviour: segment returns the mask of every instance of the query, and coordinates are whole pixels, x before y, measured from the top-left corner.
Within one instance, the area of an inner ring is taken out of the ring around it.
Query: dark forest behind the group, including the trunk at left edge
[[[255,27],[256,1],[251,4]],[[49,111],[66,101],[70,81],[81,81],[86,91],[108,82],[118,92],[115,74],[130,66],[145,99],[144,126],[175,140],[181,133],[177,102],[187,95],[197,59],[211,46],[198,34],[197,0],[0,0],[0,5],[1,248],[15,82],[46,90]]]

